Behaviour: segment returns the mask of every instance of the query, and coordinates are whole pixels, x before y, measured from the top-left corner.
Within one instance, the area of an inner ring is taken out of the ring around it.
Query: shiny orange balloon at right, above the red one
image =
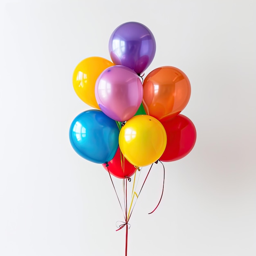
[[[180,69],[164,66],[146,76],[143,91],[142,103],[147,115],[163,121],[177,116],[186,107],[191,86]]]

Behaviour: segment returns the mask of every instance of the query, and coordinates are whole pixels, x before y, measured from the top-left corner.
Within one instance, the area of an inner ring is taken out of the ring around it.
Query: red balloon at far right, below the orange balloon
[[[167,145],[159,160],[171,162],[188,155],[196,141],[196,130],[192,121],[179,114],[173,119],[161,121],[161,123],[166,130]]]

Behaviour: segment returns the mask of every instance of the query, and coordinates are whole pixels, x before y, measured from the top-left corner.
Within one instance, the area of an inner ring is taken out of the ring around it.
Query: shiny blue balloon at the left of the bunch
[[[72,121],[69,136],[78,155],[103,164],[110,161],[117,152],[119,128],[116,121],[101,110],[87,110]]]

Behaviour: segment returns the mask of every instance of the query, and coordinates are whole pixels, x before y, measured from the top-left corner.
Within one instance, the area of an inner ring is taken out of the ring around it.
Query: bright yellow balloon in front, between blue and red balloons
[[[129,119],[119,133],[119,147],[124,157],[137,167],[156,162],[167,142],[164,126],[149,115]]]

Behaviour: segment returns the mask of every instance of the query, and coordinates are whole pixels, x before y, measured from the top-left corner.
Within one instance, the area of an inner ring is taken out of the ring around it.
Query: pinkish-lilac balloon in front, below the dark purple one
[[[116,65],[108,67],[98,77],[95,97],[105,115],[115,121],[127,121],[141,105],[143,86],[133,70]]]

